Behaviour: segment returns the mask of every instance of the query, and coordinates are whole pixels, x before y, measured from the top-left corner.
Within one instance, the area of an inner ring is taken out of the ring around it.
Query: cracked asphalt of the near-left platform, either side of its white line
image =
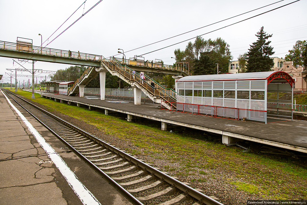
[[[101,204],[130,204],[32,116],[20,111]],[[82,204],[1,92],[0,204]]]

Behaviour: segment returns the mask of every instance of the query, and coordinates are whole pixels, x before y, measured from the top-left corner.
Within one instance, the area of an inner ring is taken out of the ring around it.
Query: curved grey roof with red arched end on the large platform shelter
[[[242,81],[242,80],[265,80],[265,79],[268,79],[268,83],[289,83],[291,86],[293,86],[293,84],[295,83],[293,78],[288,73],[282,71],[185,76],[180,78],[176,82],[237,81],[237,80]]]

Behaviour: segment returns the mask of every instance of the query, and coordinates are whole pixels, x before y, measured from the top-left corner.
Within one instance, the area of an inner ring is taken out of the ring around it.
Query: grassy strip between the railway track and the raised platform
[[[98,111],[54,102],[38,94],[31,99],[30,92],[17,93],[43,104],[51,112],[58,111],[82,120],[134,144],[135,147],[125,148],[132,154],[169,161],[174,166],[160,168],[179,178],[195,175],[191,180],[193,187],[205,186],[208,179],[221,179],[219,173],[223,170],[224,182],[248,194],[265,199],[307,199],[307,169],[289,158],[243,153],[235,147],[212,142],[202,134],[169,133]]]

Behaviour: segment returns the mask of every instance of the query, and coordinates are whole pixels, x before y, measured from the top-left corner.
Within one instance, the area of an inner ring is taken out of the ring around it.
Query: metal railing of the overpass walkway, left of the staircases
[[[79,53],[79,52],[68,51],[68,50],[51,49],[51,48],[27,45],[27,44],[22,44],[22,43],[11,43],[11,42],[6,42],[6,41],[0,41],[0,49],[42,54],[42,55],[48,55],[48,56],[77,58],[81,60],[90,60],[90,61],[101,61],[101,59],[103,58],[103,56],[101,55]]]

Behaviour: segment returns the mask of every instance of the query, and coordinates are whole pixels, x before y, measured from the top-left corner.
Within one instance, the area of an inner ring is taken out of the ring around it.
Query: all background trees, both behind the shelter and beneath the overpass
[[[239,73],[245,72],[264,72],[271,71],[274,66],[273,59],[270,58],[274,54],[273,47],[270,46],[271,41],[268,39],[272,34],[266,34],[263,26],[260,31],[255,34],[257,41],[250,45],[247,53],[240,54]],[[212,75],[218,73],[228,73],[229,62],[233,59],[229,49],[229,44],[218,37],[214,40],[205,40],[203,37],[196,37],[194,42],[188,42],[185,50],[175,49],[174,54],[176,62],[188,62],[189,68],[193,75]],[[295,66],[307,65],[307,42],[296,41],[292,50],[286,55],[285,61],[293,61]],[[85,66],[70,66],[66,69],[56,71],[56,74],[49,75],[51,81],[76,81],[80,75],[87,69]],[[217,70],[219,69],[219,70]],[[174,85],[173,78],[170,75],[162,75],[160,78],[154,73],[147,73],[148,76],[156,78],[158,83],[164,83],[166,87],[172,88]],[[129,84],[120,80],[111,73],[106,73],[107,88],[124,88]],[[96,76],[87,87],[99,88],[99,75]]]

